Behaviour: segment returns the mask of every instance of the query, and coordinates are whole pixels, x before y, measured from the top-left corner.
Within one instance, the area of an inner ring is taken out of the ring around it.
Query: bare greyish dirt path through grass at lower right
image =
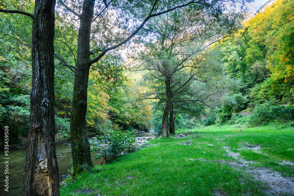
[[[255,146],[253,147],[253,150],[258,151],[260,147]],[[277,194],[277,193],[286,193],[294,195],[294,178],[290,177],[283,177],[279,172],[272,171],[267,168],[250,168],[248,163],[254,163],[253,161],[246,161],[242,158],[239,158],[239,153],[233,153],[229,149],[229,147],[224,146],[223,149],[228,152],[229,156],[233,157],[237,161],[230,161],[228,162],[229,165],[236,168],[237,170],[241,170],[245,168],[245,171],[251,175],[256,180],[262,180],[264,182],[267,182],[270,189],[267,190],[268,193]],[[294,163],[290,161],[283,161],[281,165],[283,164],[289,164],[294,165]]]

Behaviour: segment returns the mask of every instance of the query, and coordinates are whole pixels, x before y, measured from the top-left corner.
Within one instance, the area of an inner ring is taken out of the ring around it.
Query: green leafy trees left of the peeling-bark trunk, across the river
[[[18,142],[18,135],[28,133],[31,50],[20,45],[16,37],[22,39],[20,37],[24,35],[22,41],[31,44],[27,39],[31,36],[31,22],[31,18],[23,14],[1,13],[0,145],[4,144],[4,126],[9,126],[10,144]]]

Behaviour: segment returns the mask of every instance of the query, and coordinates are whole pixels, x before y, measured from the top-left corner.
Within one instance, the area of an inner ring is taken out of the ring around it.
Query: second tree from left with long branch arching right
[[[144,25],[151,18],[192,4],[195,4],[195,8],[198,10],[205,7],[218,9],[219,6],[223,8],[231,5],[224,1],[203,2],[196,0],[110,0],[108,2],[105,0],[99,2],[84,0],[83,3],[69,1],[70,8],[66,2],[61,0],[58,2],[68,11],[68,16],[72,16],[72,21],[79,22],[76,65],[70,65],[59,58],[62,64],[75,72],[71,114],[71,148],[75,176],[82,170],[93,167],[86,134],[87,88],[91,66],[99,62],[108,51],[130,41],[141,29],[144,29]],[[96,16],[93,19],[94,13]],[[93,31],[91,31],[92,26],[94,27]],[[92,37],[91,33],[93,33]],[[93,43],[91,51],[90,39]],[[95,56],[91,57],[91,55]]]

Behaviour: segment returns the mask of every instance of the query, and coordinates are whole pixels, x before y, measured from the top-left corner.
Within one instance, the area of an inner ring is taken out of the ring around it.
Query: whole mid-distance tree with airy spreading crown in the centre
[[[141,53],[136,70],[147,70],[146,84],[153,92],[143,98],[165,101],[162,137],[169,137],[168,115],[189,104],[211,105],[225,92],[220,86],[220,53],[208,49],[236,30],[236,15],[222,15],[212,8],[173,11],[154,19],[148,31],[153,39]],[[151,81],[150,81],[151,80]],[[217,87],[217,88],[216,88]],[[170,115],[170,122],[173,117]],[[171,127],[173,131],[173,127]]]

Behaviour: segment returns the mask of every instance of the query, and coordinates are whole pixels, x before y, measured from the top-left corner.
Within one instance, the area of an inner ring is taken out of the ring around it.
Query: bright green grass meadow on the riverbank
[[[60,195],[267,195],[264,182],[224,163],[234,160],[224,146],[240,153],[240,158],[254,161],[252,167],[271,168],[294,177],[293,166],[279,164],[283,160],[294,162],[294,151],[287,150],[294,149],[290,128],[210,126],[188,131],[197,133],[151,140],[155,145],[96,166],[96,172],[85,172],[62,187]],[[193,138],[196,135],[199,138]],[[173,145],[188,140],[192,145]],[[260,152],[244,148],[246,145],[258,145]]]

